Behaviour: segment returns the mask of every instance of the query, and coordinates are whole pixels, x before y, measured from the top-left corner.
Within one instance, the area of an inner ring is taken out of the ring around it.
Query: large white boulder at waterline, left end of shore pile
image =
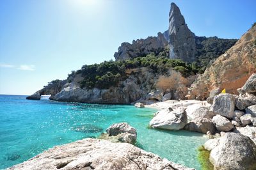
[[[187,113],[184,107],[177,109],[164,109],[150,121],[152,128],[163,128],[168,130],[180,130],[188,123]]]

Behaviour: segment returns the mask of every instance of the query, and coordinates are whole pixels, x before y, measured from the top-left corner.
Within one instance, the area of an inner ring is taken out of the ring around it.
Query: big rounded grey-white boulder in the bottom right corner
[[[256,145],[245,135],[226,133],[212,147],[209,160],[214,169],[246,170],[256,168]]]

